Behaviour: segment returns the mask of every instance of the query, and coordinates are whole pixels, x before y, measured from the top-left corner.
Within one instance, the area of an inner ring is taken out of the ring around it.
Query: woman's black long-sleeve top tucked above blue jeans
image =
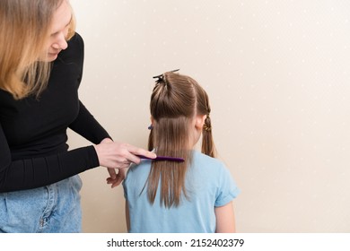
[[[54,61],[39,99],[0,90],[0,192],[47,186],[99,166],[94,147],[68,151],[67,128],[92,143],[109,134],[78,97],[83,39],[75,34]]]

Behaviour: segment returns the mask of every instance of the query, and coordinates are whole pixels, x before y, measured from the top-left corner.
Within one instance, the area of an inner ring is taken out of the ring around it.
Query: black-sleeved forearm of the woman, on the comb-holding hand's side
[[[0,149],[0,193],[47,186],[99,166],[93,146],[25,160],[11,160],[3,151],[8,148]]]

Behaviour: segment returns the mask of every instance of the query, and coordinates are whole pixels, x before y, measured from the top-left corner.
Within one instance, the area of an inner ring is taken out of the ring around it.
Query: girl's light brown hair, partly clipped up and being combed
[[[161,180],[161,204],[179,206],[181,195],[188,199],[185,176],[192,155],[188,149],[191,121],[196,115],[206,115],[202,137],[202,152],[215,157],[210,121],[210,106],[206,91],[191,77],[168,72],[158,76],[151,96],[151,115],[155,121],[148,140],[148,149],[160,156],[174,156],[184,162],[153,161],[147,179],[147,195],[154,203]]]

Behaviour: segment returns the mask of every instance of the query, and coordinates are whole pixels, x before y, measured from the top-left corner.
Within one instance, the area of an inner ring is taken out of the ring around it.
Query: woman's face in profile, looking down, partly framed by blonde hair
[[[63,0],[53,15],[50,25],[49,38],[44,56],[41,59],[46,62],[54,61],[58,53],[68,47],[66,37],[68,34],[69,24],[72,19],[71,7],[67,0]]]

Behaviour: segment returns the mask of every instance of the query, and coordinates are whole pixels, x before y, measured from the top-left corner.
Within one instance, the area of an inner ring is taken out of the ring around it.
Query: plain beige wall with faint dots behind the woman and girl
[[[211,98],[238,231],[350,232],[349,1],[71,3],[81,100],[116,141],[145,147],[152,76],[180,68]],[[126,231],[122,187],[82,177],[83,230]]]

